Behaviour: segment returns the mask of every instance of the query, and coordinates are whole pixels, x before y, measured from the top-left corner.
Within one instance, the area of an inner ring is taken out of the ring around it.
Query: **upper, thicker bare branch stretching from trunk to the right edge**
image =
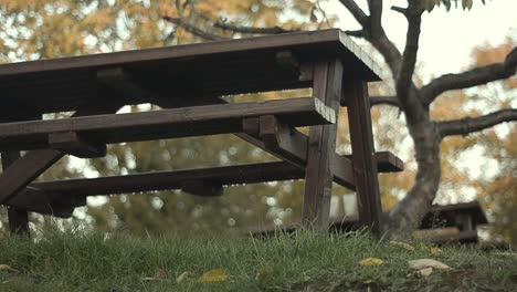
[[[506,56],[505,61],[487,66],[476,67],[458,74],[445,74],[422,87],[423,103],[431,104],[440,94],[486,84],[492,81],[513,76],[517,70],[517,48]]]

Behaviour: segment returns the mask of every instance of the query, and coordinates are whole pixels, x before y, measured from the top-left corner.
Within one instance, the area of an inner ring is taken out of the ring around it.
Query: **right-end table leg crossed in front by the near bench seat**
[[[314,67],[313,95],[334,111],[339,111],[342,64],[335,60],[318,62]],[[309,129],[305,195],[302,221],[320,231],[328,229],[333,190],[331,157],[336,152],[337,124]]]

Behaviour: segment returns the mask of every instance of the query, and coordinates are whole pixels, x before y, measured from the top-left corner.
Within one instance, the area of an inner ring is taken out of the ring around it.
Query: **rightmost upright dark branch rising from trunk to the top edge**
[[[397,94],[404,109],[409,109],[410,107],[414,108],[416,106],[415,101],[411,101],[410,98],[410,90],[413,85],[412,76],[416,64],[420,25],[422,22],[422,13],[424,11],[422,1],[409,1],[407,11],[408,12],[405,15],[408,19],[408,33],[405,39],[405,48],[395,81]]]

